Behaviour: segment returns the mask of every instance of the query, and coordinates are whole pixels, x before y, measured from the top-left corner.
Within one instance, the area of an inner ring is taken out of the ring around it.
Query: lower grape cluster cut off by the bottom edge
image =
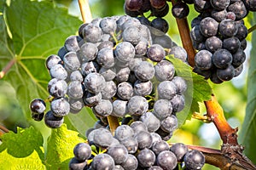
[[[182,143],[170,147],[158,133],[150,133],[147,124],[141,121],[120,125],[114,135],[98,123],[87,133],[87,139],[86,144],[74,147],[69,169],[172,170],[177,164],[186,169],[201,169],[205,163],[201,151],[188,150]]]

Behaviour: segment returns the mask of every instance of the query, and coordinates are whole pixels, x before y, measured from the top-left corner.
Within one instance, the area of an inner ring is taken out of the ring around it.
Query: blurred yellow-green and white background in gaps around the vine
[[[91,0],[89,2],[93,18],[124,14],[124,0]],[[70,14],[81,18],[77,1],[55,0],[54,3],[55,5],[68,8]],[[193,20],[196,15],[197,13],[193,6],[190,5],[189,22]],[[178,45],[182,45],[171,12],[169,12],[165,18],[169,22],[169,36],[174,42],[177,42]],[[247,21],[246,25],[250,27]],[[246,49],[247,61],[241,75],[221,85],[212,84],[213,92],[220,105],[223,106],[228,122],[230,122],[231,127],[238,127],[239,129],[241,129],[247,103],[246,80],[249,51],[251,48],[250,39],[250,36],[248,36]],[[205,108],[204,105],[201,105],[201,115],[203,114],[205,114]],[[9,83],[0,80],[0,124],[7,127],[9,130],[16,131],[16,127],[29,127],[31,123],[32,121],[26,120],[23,115],[19,102],[15,98],[14,89]],[[42,126],[42,124],[40,126]],[[221,140],[219,139],[218,132],[214,125],[212,123],[203,123],[195,119],[187,121],[181,129],[177,130],[171,141],[183,142],[184,144],[198,144],[216,149],[219,149],[221,145]],[[213,167],[206,166],[204,169],[213,169]]]

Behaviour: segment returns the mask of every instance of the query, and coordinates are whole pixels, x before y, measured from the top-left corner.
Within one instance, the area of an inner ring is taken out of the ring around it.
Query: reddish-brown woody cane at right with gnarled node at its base
[[[181,0],[172,0],[172,5],[180,2]],[[177,27],[180,33],[181,40],[183,42],[183,48],[186,49],[189,57],[189,65],[195,66],[195,49],[193,48],[191,38],[189,37],[189,24],[187,19],[176,20]],[[224,117],[224,111],[222,107],[218,104],[218,100],[212,94],[212,99],[204,101],[207,108],[208,120],[213,122],[215,127],[218,129],[220,138],[223,141],[221,147],[221,157],[225,156],[229,158],[229,161],[223,161],[219,155],[214,157],[213,153],[206,153],[206,157],[212,157],[212,161],[207,161],[207,163],[212,164],[221,169],[256,169],[252,161],[250,161],[246,156],[242,154],[243,147],[238,144],[237,141],[237,131],[238,128],[230,127],[230,124],[226,121]],[[223,162],[219,162],[219,161]],[[233,165],[239,164],[240,167],[233,167]]]

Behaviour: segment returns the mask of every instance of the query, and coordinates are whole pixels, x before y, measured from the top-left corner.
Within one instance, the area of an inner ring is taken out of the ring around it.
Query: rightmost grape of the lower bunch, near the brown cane
[[[189,169],[201,169],[205,164],[205,156],[198,150],[190,150],[184,156],[185,166]]]

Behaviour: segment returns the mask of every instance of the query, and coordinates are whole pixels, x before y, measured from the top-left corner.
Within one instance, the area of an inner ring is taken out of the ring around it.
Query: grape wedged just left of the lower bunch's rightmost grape
[[[189,151],[188,147],[182,143],[172,144],[170,150],[177,157],[177,161],[183,161],[183,157]]]

